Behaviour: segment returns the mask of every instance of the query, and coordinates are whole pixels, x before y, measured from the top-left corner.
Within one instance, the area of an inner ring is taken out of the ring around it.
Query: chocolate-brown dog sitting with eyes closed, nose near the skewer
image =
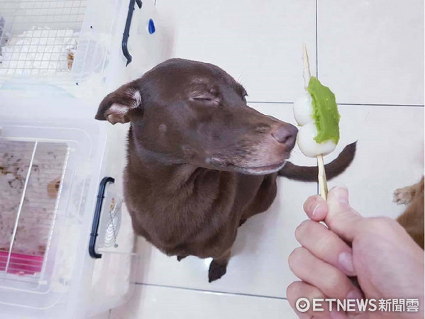
[[[213,257],[210,282],[226,273],[238,226],[275,199],[278,174],[317,177],[316,167],[285,165],[297,128],[245,96],[219,67],[172,59],[106,96],[96,115],[131,122],[124,189],[136,233],[179,260]],[[354,153],[355,143],[326,166],[328,177]]]

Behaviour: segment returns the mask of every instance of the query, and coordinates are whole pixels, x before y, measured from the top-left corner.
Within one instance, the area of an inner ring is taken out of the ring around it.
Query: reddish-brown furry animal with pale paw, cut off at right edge
[[[413,240],[424,249],[424,177],[419,183],[394,191],[394,201],[409,205],[397,218]]]

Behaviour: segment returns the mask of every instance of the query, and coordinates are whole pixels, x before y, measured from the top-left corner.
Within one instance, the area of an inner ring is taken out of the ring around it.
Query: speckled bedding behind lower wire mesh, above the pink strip
[[[33,142],[0,141],[0,251],[9,252]],[[43,256],[54,220],[66,145],[39,143],[18,220],[13,253]]]

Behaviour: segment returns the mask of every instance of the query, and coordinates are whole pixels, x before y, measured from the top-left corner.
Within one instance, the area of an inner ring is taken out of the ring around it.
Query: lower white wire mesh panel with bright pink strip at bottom
[[[0,272],[40,277],[68,147],[0,140]]]

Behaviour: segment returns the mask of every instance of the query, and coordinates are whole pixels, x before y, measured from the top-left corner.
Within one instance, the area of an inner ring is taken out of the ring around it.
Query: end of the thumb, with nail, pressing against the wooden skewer
[[[363,219],[360,214],[351,208],[348,202],[348,189],[336,186],[329,191],[328,214],[324,222],[333,233],[348,242],[352,242],[360,230],[359,224]]]

